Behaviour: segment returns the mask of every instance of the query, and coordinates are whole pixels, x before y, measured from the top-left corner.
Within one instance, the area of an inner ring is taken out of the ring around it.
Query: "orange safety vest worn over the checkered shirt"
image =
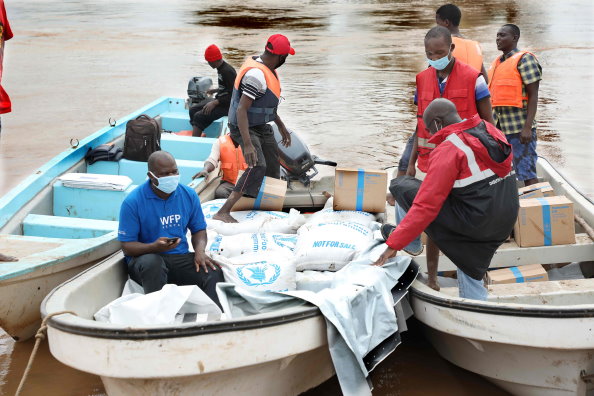
[[[493,107],[524,107],[522,101],[528,100],[528,96],[523,92],[524,84],[518,71],[518,62],[524,54],[531,54],[531,52],[517,52],[503,62],[498,56],[489,67],[489,92]]]

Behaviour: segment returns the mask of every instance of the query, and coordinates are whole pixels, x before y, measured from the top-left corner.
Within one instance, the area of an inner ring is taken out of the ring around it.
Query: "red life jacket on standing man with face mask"
[[[437,71],[434,68],[428,67],[417,74],[417,166],[421,171],[427,172],[429,154],[435,148],[434,144],[429,143],[431,135],[423,122],[425,109],[434,99],[446,98],[456,105],[460,117],[472,118],[478,113],[475,87],[479,74],[474,68],[456,60],[446,81],[443,95],[439,91]]]

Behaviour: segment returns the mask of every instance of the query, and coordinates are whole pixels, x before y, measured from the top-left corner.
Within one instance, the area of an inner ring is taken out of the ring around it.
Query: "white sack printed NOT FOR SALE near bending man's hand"
[[[371,213],[333,210],[332,202],[314,213],[297,232],[297,271],[338,271],[373,241]]]

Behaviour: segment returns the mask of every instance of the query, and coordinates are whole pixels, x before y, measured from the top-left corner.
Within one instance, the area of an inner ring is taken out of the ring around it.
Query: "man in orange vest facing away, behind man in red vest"
[[[481,46],[478,41],[462,37],[458,28],[460,19],[462,19],[462,12],[454,4],[442,5],[435,12],[435,23],[445,27],[452,34],[452,42],[455,45],[454,52],[452,52],[454,58],[480,71],[483,77],[487,79]]]

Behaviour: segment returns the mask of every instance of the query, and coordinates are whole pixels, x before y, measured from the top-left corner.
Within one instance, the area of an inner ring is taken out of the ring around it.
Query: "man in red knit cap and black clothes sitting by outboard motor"
[[[214,99],[209,98],[196,106],[190,108],[190,124],[192,124],[192,136],[201,136],[213,121],[226,116],[229,113],[229,103],[233,92],[233,82],[237,72],[223,60],[221,50],[214,44],[209,45],[204,51],[204,59],[210,67],[217,69],[219,86],[209,90],[208,94],[215,94]]]

